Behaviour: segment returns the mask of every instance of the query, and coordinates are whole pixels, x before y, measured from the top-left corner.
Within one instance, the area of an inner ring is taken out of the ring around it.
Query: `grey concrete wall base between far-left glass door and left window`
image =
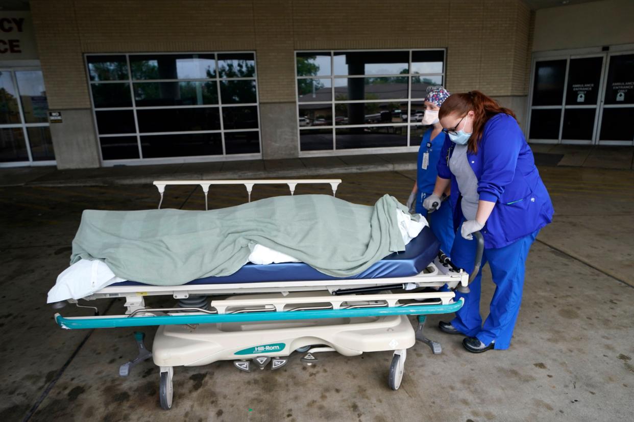
[[[99,167],[99,144],[91,109],[60,111],[62,123],[51,123],[57,168],[64,170]]]

